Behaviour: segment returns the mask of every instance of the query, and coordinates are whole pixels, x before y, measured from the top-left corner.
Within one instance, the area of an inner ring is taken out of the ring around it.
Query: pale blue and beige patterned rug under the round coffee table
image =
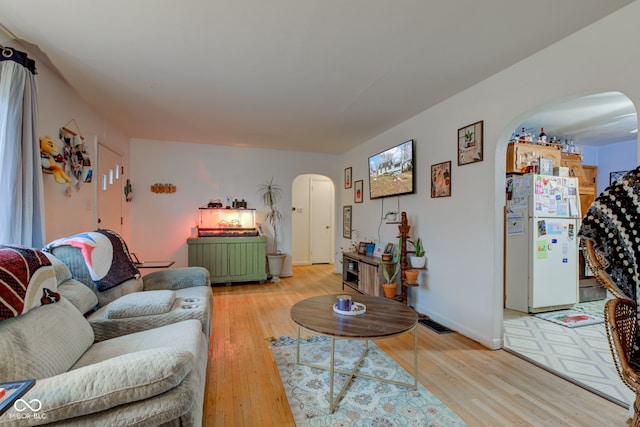
[[[364,341],[336,340],[335,366],[351,370]],[[296,340],[281,337],[271,349],[297,426],[466,426],[453,411],[421,384],[418,390],[354,378],[335,412],[329,414],[329,372],[296,364]],[[331,340],[301,340],[300,360],[329,366]],[[360,365],[360,373],[402,382],[413,382],[391,357],[373,342]],[[335,374],[334,397],[347,376]]]

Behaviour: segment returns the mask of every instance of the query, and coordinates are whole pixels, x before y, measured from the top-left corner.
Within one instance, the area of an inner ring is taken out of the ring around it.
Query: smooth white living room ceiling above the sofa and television
[[[0,23],[128,136],[341,153],[631,2],[0,0]]]

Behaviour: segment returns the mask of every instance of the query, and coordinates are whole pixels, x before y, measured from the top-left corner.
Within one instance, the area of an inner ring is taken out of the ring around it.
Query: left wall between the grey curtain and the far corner
[[[59,129],[74,119],[82,131],[82,135],[85,136],[85,143],[88,144],[94,174],[98,164],[95,143],[97,138],[124,156],[126,179],[129,165],[128,137],[106,119],[96,114],[76,94],[75,90],[62,80],[54,70],[49,69],[44,61],[35,56],[35,53],[9,40],[3,33],[0,33],[0,44],[27,52],[29,57],[36,61],[38,69],[36,76],[38,84],[38,135],[48,135],[62,147],[62,142],[58,138]],[[70,124],[69,128],[76,130],[74,124]],[[83,184],[79,190],[72,187],[69,197],[65,194],[66,189],[67,186],[57,184],[52,175],[44,175],[47,241],[96,228],[94,184]],[[127,218],[126,206],[123,213]],[[128,233],[128,224],[125,222],[122,231],[125,240],[128,239]]]

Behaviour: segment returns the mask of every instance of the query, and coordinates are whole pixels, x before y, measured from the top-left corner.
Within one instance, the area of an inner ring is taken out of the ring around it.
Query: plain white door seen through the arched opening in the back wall
[[[333,262],[331,238],[333,233],[332,183],[328,180],[311,180],[311,263]]]

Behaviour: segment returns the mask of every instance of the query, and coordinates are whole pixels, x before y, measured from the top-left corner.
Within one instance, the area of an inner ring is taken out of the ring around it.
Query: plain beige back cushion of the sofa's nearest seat
[[[89,322],[66,299],[0,322],[0,381],[68,371],[93,343]]]

